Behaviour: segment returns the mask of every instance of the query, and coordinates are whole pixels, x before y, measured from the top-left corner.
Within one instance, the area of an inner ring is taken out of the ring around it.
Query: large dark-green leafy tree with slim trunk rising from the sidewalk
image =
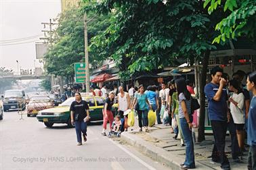
[[[177,59],[202,61],[201,87],[205,86],[215,25],[222,13],[209,16],[203,1],[105,0],[95,10],[112,13],[110,26],[92,39],[99,55],[109,56],[121,77],[175,65]],[[205,139],[205,94],[200,89],[199,141]]]

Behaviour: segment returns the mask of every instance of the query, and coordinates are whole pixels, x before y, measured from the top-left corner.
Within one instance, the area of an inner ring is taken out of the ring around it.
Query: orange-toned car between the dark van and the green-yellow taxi
[[[37,113],[43,109],[49,109],[54,107],[54,103],[49,96],[33,96],[29,98],[27,106],[27,115],[37,115]]]

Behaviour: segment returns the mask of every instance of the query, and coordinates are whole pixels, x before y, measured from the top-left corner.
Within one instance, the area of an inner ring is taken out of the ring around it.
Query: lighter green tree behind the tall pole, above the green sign
[[[58,16],[58,27],[54,32],[56,35],[54,45],[49,47],[49,51],[45,55],[45,69],[49,74],[64,76],[68,80],[72,80],[74,77],[73,64],[85,61],[83,5],[80,8],[73,7]],[[91,37],[100,34],[108,26],[108,16],[98,16],[90,12],[88,17],[93,18],[88,24],[90,44]],[[97,53],[89,51],[89,63],[93,66],[98,65],[102,60]]]

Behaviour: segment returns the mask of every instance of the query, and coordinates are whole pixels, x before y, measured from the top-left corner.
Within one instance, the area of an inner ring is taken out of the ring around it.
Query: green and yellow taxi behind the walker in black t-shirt
[[[100,96],[82,96],[82,98],[89,104],[90,121],[102,121],[104,98]],[[39,111],[37,114],[38,121],[43,122],[48,128],[51,128],[54,123],[66,123],[68,127],[74,127],[70,119],[70,105],[74,100],[74,97],[70,97],[58,107]],[[117,104],[114,104],[113,107],[117,107]]]

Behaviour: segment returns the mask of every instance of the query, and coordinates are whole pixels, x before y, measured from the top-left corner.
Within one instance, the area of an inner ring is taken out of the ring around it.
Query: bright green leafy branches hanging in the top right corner
[[[209,3],[211,4],[209,5]],[[222,2],[225,2],[223,5]],[[220,34],[213,39],[213,43],[225,42],[226,38],[247,36],[255,40],[256,35],[256,1],[255,0],[206,0],[204,7],[209,5],[211,14],[218,6],[229,15],[216,24],[215,30]]]

